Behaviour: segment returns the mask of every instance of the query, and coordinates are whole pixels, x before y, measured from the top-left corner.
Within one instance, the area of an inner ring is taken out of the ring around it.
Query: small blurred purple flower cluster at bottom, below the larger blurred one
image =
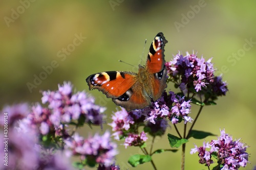
[[[75,134],[73,138],[65,140],[65,143],[66,149],[70,149],[72,152],[72,154],[66,152],[67,155],[79,155],[81,160],[90,158],[89,161],[95,161],[104,166],[111,166],[118,154],[117,144],[111,141],[110,132],[108,131],[102,136],[95,134],[87,139]]]

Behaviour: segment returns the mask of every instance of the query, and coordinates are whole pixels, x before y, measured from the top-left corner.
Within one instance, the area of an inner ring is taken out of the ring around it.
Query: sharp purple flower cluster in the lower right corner
[[[210,166],[213,161],[211,156],[217,155],[219,165],[223,165],[222,169],[238,169],[240,166],[245,167],[248,162],[248,153],[244,143],[240,142],[240,139],[233,140],[232,136],[225,133],[225,130],[221,131],[221,136],[218,140],[211,140],[210,143],[203,144],[203,147],[197,147],[191,149],[190,154],[198,152],[200,158],[199,162]],[[206,148],[210,148],[210,151],[206,151]]]

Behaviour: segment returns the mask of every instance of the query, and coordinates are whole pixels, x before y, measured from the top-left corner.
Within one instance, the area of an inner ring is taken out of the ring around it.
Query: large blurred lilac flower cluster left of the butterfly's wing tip
[[[29,114],[31,125],[37,127],[42,135],[52,133],[68,137],[66,126],[69,123],[84,123],[102,125],[105,108],[94,104],[94,98],[85,92],[72,93],[72,84],[64,82],[58,85],[57,91],[43,91],[42,107],[39,103],[32,106]],[[81,122],[80,122],[81,123]],[[65,126],[63,126],[65,125]],[[81,126],[81,125],[79,125]]]

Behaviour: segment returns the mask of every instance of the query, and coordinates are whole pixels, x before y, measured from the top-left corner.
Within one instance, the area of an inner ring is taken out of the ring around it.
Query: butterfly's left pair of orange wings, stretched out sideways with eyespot
[[[98,89],[108,98],[127,111],[142,109],[151,103],[142,93],[142,85],[137,74],[127,71],[105,71],[89,76],[86,81],[89,89]]]

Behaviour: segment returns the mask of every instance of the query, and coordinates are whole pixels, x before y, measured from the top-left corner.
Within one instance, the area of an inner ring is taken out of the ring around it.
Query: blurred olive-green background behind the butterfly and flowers
[[[223,80],[228,82],[227,95],[217,101],[217,106],[203,109],[195,129],[220,135],[220,128],[225,128],[226,133],[242,138],[250,146],[251,164],[241,169],[252,169],[256,164],[255,1],[33,1],[0,2],[1,108],[6,104],[40,101],[40,90],[56,90],[63,81],[71,81],[77,91],[89,91],[85,79],[95,72],[137,71],[118,60],[138,65],[142,57],[144,63],[154,36],[163,32],[168,40],[166,61],[178,51],[185,54],[194,50],[206,59],[214,57],[217,74],[223,73]],[[80,42],[77,36],[82,37]],[[49,74],[42,73],[44,68],[48,68]],[[35,77],[44,80],[35,84]],[[98,104],[108,107],[106,122],[110,123],[117,107],[101,92],[90,93]],[[190,116],[195,118],[197,111],[193,106]],[[105,129],[110,128],[104,126]],[[101,130],[86,127],[80,133],[87,136],[95,131]],[[168,133],[176,134],[174,128],[169,128]],[[216,137],[206,141],[211,139]],[[200,146],[203,140],[190,139],[185,167],[206,169],[198,164],[196,154],[189,154],[193,143]],[[150,145],[150,140],[147,144]],[[154,149],[159,148],[169,148],[166,135],[157,138]],[[136,169],[127,159],[141,153],[140,150],[125,150],[120,145],[119,151],[116,163],[121,169]],[[163,153],[153,159],[158,169],[180,169],[180,155],[180,151]],[[146,163],[137,169],[153,168]]]

